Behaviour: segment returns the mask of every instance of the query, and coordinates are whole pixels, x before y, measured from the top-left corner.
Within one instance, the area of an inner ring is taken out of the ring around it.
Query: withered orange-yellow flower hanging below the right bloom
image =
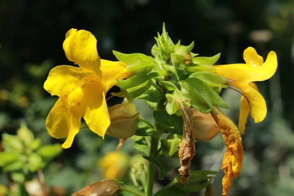
[[[217,107],[215,107],[215,112],[211,112],[211,116],[221,128],[222,138],[226,145],[221,170],[224,172],[224,177],[222,178],[222,195],[227,196],[233,178],[237,177],[242,170],[244,154],[242,138],[236,125]]]

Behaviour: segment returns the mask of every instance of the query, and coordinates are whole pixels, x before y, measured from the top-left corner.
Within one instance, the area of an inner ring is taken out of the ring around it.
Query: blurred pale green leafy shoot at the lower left
[[[24,122],[17,135],[3,133],[2,138],[4,151],[0,152],[0,167],[3,172],[10,172],[12,180],[20,184],[62,151],[59,144],[41,146],[41,139],[34,138]]]

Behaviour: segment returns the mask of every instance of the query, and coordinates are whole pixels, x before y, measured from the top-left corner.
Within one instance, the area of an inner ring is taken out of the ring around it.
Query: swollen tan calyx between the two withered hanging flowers
[[[221,130],[211,114],[203,114],[196,109],[193,109],[193,124],[195,138],[204,142],[214,138]]]

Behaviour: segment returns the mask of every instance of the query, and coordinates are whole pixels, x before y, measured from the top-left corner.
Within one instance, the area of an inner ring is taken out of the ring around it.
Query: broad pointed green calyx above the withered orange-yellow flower
[[[183,95],[199,112],[208,114],[211,110],[214,111],[214,105],[228,108],[227,103],[202,80],[190,77],[179,83]]]

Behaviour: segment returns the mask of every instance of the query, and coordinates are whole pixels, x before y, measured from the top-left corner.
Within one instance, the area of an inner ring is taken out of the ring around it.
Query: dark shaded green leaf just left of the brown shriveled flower
[[[183,119],[176,115],[169,115],[166,110],[153,111],[153,117],[157,123],[176,129],[179,133],[183,131]]]

